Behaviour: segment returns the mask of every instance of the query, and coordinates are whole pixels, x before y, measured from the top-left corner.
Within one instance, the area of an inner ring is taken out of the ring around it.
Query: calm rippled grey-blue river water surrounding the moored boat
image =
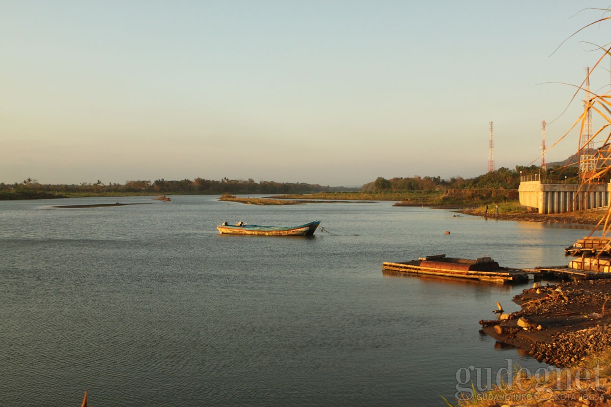
[[[142,203],[56,209],[54,205]],[[390,202],[0,201],[0,405],[444,406],[457,372],[543,365],[479,333],[528,285],[382,273],[426,254],[566,264],[588,228]],[[312,237],[220,235],[243,220]],[[450,234],[445,234],[450,231]]]

